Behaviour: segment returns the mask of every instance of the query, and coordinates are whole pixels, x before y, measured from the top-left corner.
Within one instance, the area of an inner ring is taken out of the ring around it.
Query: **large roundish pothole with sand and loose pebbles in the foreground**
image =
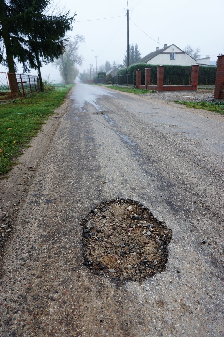
[[[94,274],[141,282],[166,267],[172,231],[140,203],[101,203],[80,224],[84,265]]]

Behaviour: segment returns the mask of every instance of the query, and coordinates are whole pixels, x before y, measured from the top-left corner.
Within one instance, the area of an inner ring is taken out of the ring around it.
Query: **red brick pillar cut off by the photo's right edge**
[[[224,55],[218,56],[214,101],[224,102]]]

